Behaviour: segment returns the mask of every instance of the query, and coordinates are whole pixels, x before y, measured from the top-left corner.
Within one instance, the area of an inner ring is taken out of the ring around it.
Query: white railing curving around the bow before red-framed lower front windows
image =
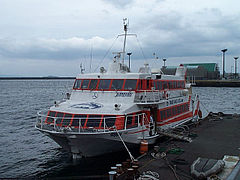
[[[94,133],[138,128],[142,130],[149,127],[146,113],[125,116],[112,116],[103,118],[64,118],[52,117],[46,113],[38,112],[36,127],[46,131],[64,133]],[[51,120],[51,121],[47,121]],[[69,122],[69,123],[67,123]],[[71,125],[70,125],[70,122]],[[73,123],[74,122],[74,123]]]

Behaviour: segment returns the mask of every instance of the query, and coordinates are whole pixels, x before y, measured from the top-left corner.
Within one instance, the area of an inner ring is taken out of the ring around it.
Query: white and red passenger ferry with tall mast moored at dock
[[[151,70],[147,63],[138,73],[130,72],[124,64],[127,28],[124,23],[123,51],[108,70],[79,74],[71,94],[38,112],[35,127],[73,158],[124,150],[142,140],[153,144],[158,132],[198,119],[198,96],[192,100],[183,65],[175,75]]]

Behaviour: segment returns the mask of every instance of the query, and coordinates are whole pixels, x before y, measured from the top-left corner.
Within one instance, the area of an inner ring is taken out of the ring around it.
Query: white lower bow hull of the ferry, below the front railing
[[[126,150],[115,131],[101,134],[69,134],[39,130],[70,152],[73,158],[93,157]],[[136,131],[136,129],[120,131],[119,134],[129,149],[139,148],[142,139],[147,140],[149,144],[154,144],[158,137],[158,135],[150,136],[147,129],[144,132]]]

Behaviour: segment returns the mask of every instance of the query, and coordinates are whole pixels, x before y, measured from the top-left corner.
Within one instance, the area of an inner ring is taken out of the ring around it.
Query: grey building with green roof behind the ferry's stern
[[[217,63],[197,63],[183,65],[187,67],[187,79],[189,80],[220,79],[220,71]],[[163,66],[161,70],[164,74],[173,75],[176,72],[176,67]]]

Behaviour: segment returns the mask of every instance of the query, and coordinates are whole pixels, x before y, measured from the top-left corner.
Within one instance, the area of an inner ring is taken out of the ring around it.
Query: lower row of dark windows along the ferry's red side
[[[161,120],[166,120],[166,119],[169,119],[171,117],[174,117],[176,115],[179,115],[179,114],[187,112],[187,111],[189,111],[189,104],[188,103],[178,105],[178,106],[174,106],[174,107],[170,107],[168,109],[160,111],[160,119]]]

